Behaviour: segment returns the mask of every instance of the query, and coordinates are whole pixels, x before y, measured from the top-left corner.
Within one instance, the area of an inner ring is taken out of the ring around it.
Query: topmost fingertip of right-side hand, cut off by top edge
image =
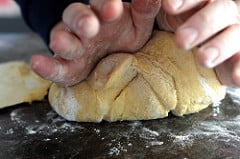
[[[180,14],[202,8],[209,0],[162,0],[162,6],[169,14]]]

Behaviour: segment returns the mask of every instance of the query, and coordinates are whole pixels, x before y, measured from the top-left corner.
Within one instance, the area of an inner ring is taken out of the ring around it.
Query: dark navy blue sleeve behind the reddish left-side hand
[[[88,0],[16,0],[26,24],[38,33],[46,44],[52,27],[62,18],[63,10],[73,2],[88,4]]]

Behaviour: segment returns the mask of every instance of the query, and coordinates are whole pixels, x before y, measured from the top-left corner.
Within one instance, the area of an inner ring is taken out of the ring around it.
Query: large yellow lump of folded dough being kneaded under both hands
[[[53,84],[49,92],[53,109],[79,122],[182,116],[224,97],[215,72],[198,65],[193,51],[176,47],[167,32],[155,32],[135,54],[107,56],[87,80],[66,88]]]

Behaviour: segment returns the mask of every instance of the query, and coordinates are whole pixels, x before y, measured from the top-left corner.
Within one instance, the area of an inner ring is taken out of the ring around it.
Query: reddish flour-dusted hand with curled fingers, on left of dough
[[[33,70],[62,86],[85,79],[107,53],[135,52],[149,39],[161,0],[90,0],[68,6],[51,31],[54,57],[33,56]]]

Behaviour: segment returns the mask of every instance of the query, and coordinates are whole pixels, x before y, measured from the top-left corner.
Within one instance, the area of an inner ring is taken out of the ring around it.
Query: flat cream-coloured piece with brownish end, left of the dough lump
[[[0,76],[0,108],[42,100],[51,85],[23,61],[1,63]]]

